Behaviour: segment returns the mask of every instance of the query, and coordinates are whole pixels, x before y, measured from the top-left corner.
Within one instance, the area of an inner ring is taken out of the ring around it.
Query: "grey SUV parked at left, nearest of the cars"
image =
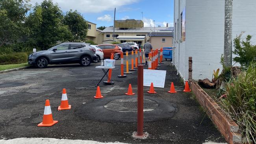
[[[95,48],[84,42],[64,42],[48,50],[34,52],[28,56],[28,64],[46,68],[48,64],[80,63],[89,66],[96,60]]]

